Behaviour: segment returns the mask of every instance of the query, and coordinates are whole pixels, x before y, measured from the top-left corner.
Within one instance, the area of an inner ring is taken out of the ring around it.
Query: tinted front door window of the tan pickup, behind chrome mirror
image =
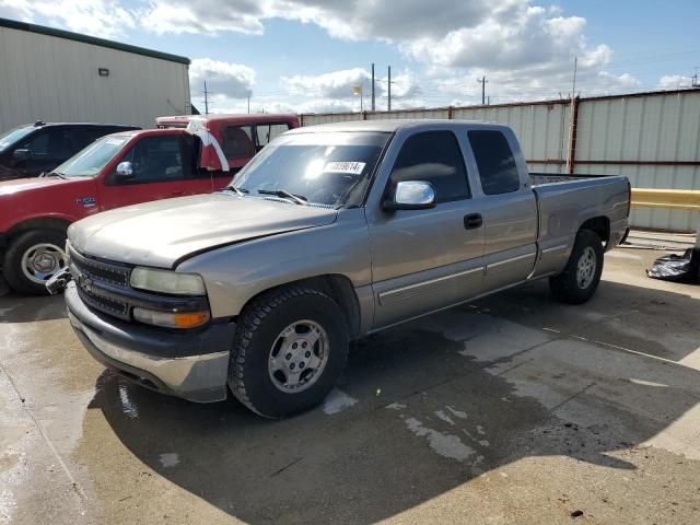
[[[404,142],[392,168],[389,189],[406,180],[432,184],[435,202],[471,197],[462,150],[452,131],[424,131]]]

